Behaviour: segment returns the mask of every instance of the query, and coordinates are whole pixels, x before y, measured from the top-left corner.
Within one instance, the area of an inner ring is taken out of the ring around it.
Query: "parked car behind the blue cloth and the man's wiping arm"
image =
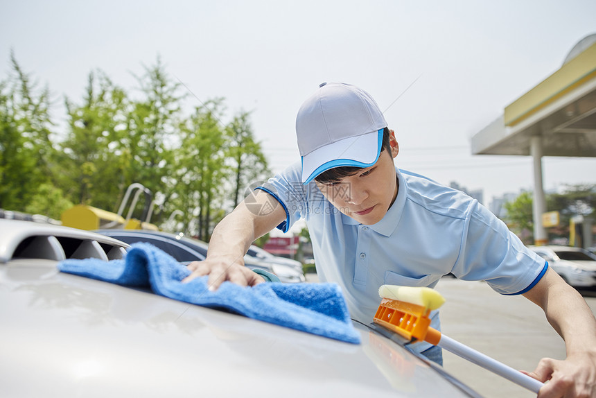
[[[184,263],[204,260],[207,256],[207,248],[209,248],[208,243],[188,238],[182,234],[143,230],[98,230],[96,232],[112,236],[129,244],[136,242],[151,243]],[[244,263],[249,268],[261,268],[274,273],[281,282],[297,283],[306,280],[301,272],[283,264],[261,261],[248,255],[244,257]]]

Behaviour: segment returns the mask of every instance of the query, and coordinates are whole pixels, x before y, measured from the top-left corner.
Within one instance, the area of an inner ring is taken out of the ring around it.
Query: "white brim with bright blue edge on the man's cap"
[[[317,175],[335,167],[372,166],[382,147],[383,129],[322,146],[302,157],[302,182],[308,184]]]

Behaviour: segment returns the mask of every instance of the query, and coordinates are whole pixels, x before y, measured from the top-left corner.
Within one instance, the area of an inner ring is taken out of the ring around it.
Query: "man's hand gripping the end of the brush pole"
[[[529,377],[548,381],[538,398],[596,397],[596,353],[570,355],[565,361],[543,358]]]

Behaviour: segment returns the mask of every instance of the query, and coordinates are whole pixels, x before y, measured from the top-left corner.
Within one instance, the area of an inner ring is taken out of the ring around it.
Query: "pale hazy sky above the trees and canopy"
[[[482,189],[488,206],[532,189],[532,159],[472,155],[471,137],[596,33],[595,15],[593,0],[0,0],[0,80],[14,51],[60,125],[89,72],[134,92],[159,57],[189,107],[224,97],[224,119],[252,112],[273,172],[299,160],[301,103],[319,83],[351,83],[396,131],[399,167]],[[595,158],[544,157],[543,185],[596,184],[595,171]]]

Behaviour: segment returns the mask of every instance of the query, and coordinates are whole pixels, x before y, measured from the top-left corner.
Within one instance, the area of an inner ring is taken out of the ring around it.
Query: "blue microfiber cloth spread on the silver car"
[[[134,243],[123,260],[64,260],[58,269],[123,286],[149,287],[166,297],[215,308],[308,333],[360,343],[347,304],[337,284],[271,282],[243,287],[224,282],[209,291],[207,277],[182,279],[191,271],[149,243]]]

